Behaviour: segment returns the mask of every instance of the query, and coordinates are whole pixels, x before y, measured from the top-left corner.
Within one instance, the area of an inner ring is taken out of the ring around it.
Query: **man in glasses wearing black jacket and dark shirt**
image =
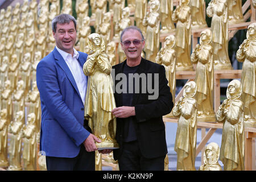
[[[171,112],[172,95],[164,67],[141,57],[144,44],[139,28],[125,28],[121,46],[127,59],[112,70],[120,147],[114,159],[121,170],[164,170],[167,154],[163,115]]]

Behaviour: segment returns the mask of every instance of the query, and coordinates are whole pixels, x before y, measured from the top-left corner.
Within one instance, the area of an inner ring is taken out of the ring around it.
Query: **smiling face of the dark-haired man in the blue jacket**
[[[56,46],[68,53],[73,53],[76,43],[76,29],[74,22],[59,24],[57,23],[56,32],[53,32]]]

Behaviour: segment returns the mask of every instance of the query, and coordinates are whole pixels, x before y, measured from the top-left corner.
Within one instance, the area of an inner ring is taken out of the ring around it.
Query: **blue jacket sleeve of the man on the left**
[[[45,61],[40,61],[36,68],[36,82],[40,98],[47,111],[59,123],[65,132],[79,146],[89,136],[89,131],[77,121],[75,115],[63,101],[59,88],[56,68]]]

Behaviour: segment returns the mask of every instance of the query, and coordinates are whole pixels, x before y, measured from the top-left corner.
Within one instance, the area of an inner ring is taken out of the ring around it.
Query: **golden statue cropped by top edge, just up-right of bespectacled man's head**
[[[160,21],[162,25],[160,32],[162,34],[175,31],[174,22],[172,21],[173,12],[174,12],[173,0],[160,1]]]

